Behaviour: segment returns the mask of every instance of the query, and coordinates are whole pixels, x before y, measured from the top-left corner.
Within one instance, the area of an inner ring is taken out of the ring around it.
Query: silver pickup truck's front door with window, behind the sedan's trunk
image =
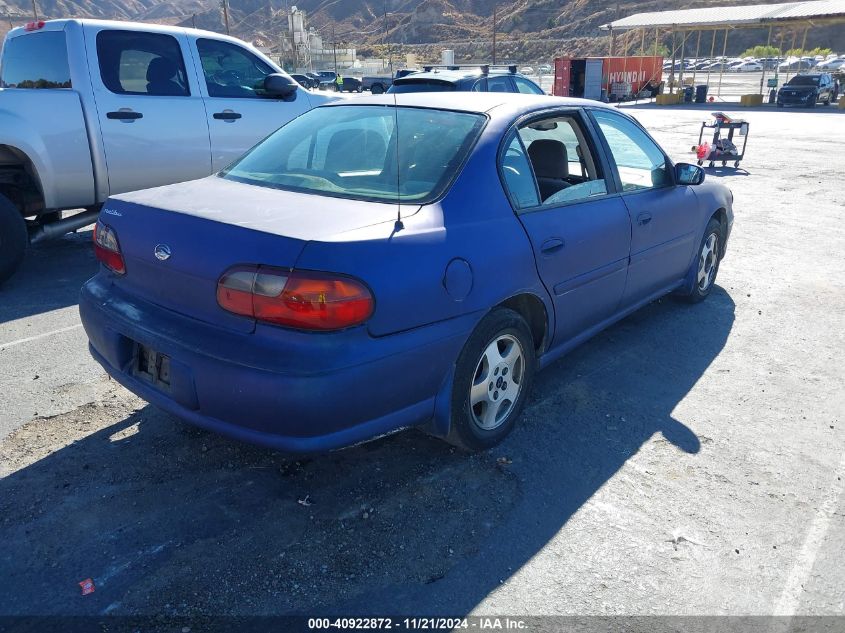
[[[192,40],[192,47],[202,72],[214,171],[310,109],[305,90],[289,101],[266,97],[264,78],[281,71],[246,47],[202,37]]]

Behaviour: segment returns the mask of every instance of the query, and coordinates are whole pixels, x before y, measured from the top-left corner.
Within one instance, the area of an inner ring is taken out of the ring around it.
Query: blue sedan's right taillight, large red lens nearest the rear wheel
[[[374,300],[360,281],[333,273],[236,266],[217,282],[224,310],[301,330],[342,330],[366,321]]]

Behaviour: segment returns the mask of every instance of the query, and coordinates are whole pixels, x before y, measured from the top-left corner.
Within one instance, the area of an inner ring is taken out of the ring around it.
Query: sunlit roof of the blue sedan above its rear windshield
[[[515,92],[403,92],[378,96],[338,99],[321,107],[350,105],[382,105],[437,110],[458,110],[477,114],[490,114],[496,108],[506,106],[508,112],[533,112],[555,107],[596,107],[613,108],[600,101],[574,99],[572,97],[550,97],[548,95],[522,94]],[[614,108],[615,109],[615,108]]]

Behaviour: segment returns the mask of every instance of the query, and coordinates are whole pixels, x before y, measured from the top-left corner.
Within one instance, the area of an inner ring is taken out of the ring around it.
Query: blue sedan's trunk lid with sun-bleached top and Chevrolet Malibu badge
[[[202,180],[110,198],[100,219],[117,233],[124,291],[239,332],[255,321],[217,304],[217,281],[238,264],[293,268],[310,240],[396,217],[396,206]],[[166,247],[166,248],[165,248]],[[168,255],[169,253],[169,255]]]

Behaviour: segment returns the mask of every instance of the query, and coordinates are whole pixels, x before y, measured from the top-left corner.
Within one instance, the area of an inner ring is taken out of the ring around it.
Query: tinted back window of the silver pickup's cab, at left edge
[[[70,88],[64,31],[19,35],[6,40],[0,63],[3,88]]]

